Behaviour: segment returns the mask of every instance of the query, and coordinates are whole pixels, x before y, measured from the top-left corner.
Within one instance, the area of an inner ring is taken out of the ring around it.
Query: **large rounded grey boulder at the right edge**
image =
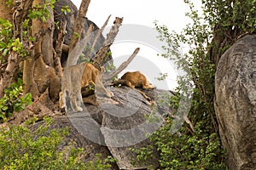
[[[256,35],[221,57],[215,77],[219,133],[232,170],[256,168]]]

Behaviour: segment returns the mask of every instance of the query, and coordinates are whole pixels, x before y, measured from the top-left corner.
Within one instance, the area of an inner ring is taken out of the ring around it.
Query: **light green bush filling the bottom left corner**
[[[49,131],[50,118],[35,132],[26,126],[10,126],[0,130],[1,169],[109,169],[101,155],[95,161],[84,162],[84,150],[76,149],[71,143],[61,148],[67,129]],[[108,158],[107,161],[111,159]]]

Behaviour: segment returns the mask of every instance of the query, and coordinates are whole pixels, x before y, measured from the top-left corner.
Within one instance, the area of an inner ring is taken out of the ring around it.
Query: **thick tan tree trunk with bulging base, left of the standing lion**
[[[36,5],[41,6],[42,1],[34,0],[32,6],[35,7]],[[27,58],[24,62],[24,91],[31,93],[33,99],[38,99],[40,94],[49,88],[49,77],[46,69],[54,66],[54,17],[52,9],[48,7],[48,10],[49,19],[45,22],[40,19],[32,20],[32,37],[36,38],[36,42],[31,58]]]

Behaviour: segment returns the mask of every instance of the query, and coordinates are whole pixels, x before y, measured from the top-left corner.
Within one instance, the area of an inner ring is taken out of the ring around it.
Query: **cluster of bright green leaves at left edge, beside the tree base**
[[[32,95],[23,96],[22,80],[11,84],[4,89],[3,98],[0,99],[0,118],[6,119],[14,111],[23,111],[27,105],[32,104]]]

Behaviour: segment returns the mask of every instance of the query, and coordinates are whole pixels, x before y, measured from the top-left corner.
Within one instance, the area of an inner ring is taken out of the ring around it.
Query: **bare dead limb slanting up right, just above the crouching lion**
[[[113,77],[115,77],[116,75],[118,75],[121,71],[123,71],[127,65],[129,65],[132,61],[132,59],[135,58],[135,56],[137,55],[137,53],[139,52],[140,48],[136,48],[135,51],[133,52],[133,54],[131,54],[131,57],[129,57],[129,59],[127,59],[125,62],[123,62],[118,69],[116,69],[115,71],[112,71],[111,73],[109,73],[106,77],[103,77],[104,81],[109,81],[112,80]]]

